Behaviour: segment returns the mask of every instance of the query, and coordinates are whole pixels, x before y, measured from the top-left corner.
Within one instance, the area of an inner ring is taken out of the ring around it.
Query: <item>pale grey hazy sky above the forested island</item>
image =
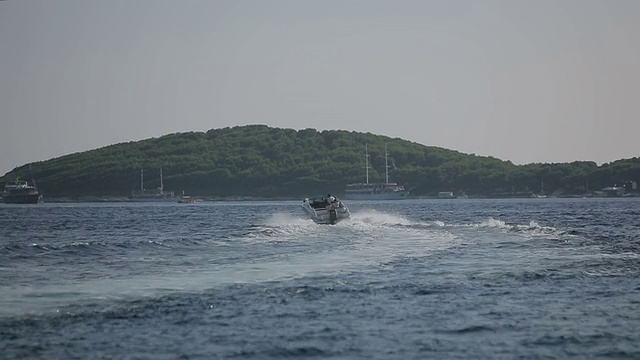
[[[640,156],[637,0],[0,1],[0,174],[245,124]]]

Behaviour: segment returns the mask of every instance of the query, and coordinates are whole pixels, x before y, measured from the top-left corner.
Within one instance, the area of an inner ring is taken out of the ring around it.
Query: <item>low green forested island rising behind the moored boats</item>
[[[591,161],[514,165],[399,138],[343,130],[293,130],[247,125],[165,135],[25,164],[2,183],[36,179],[45,199],[126,198],[140,188],[210,198],[300,198],[341,195],[346,184],[390,181],[412,188],[413,197],[451,192],[468,197],[602,195],[603,188],[637,194],[640,158],[598,166]],[[604,193],[605,195],[607,193]]]

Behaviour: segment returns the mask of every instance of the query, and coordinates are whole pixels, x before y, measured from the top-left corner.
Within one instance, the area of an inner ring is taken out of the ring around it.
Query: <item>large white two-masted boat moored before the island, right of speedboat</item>
[[[400,200],[406,199],[411,190],[405,189],[403,185],[395,182],[389,182],[389,153],[387,146],[384,146],[384,162],[385,162],[385,182],[369,182],[369,151],[365,146],[365,169],[366,182],[348,184],[344,198],[347,200]]]

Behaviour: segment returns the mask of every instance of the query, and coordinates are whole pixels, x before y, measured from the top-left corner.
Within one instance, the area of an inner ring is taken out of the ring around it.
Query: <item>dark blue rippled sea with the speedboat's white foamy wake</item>
[[[0,205],[0,358],[640,358],[640,199]]]

